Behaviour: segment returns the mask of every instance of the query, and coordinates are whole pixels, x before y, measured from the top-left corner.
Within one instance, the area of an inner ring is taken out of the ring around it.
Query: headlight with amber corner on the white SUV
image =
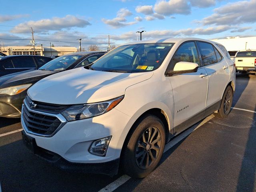
[[[61,114],[68,121],[95,117],[113,109],[115,106],[117,106],[118,103],[122,101],[123,98],[124,96],[120,96],[118,98],[99,103],[72,105]]]

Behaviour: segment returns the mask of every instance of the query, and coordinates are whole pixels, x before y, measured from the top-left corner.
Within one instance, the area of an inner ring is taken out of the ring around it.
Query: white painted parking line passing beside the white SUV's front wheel
[[[194,130],[196,130],[197,128],[199,128],[209,120],[211,120],[212,118],[214,118],[214,114],[211,114],[210,116],[206,117],[202,122],[195,124],[188,130],[186,130],[185,132],[183,132],[182,134],[180,134],[179,136],[177,136],[176,138],[168,142],[168,144],[166,144],[164,148],[164,153],[168,151],[170,148],[172,148],[174,145],[176,145],[178,142],[180,142],[182,139],[187,137]],[[112,183],[108,184],[106,187],[102,188],[98,192],[112,192],[116,190],[119,186],[127,182],[130,178],[131,177],[128,175],[122,175],[120,178],[118,178],[117,180],[114,180]]]

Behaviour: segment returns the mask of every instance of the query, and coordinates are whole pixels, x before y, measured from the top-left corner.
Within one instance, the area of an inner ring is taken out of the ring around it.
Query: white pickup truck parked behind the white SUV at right
[[[236,64],[237,72],[256,71],[256,50],[241,50],[231,58]]]

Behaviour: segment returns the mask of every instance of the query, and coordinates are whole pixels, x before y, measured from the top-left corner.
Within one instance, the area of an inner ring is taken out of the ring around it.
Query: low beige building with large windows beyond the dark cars
[[[76,47],[41,47],[41,46],[1,46],[0,52],[6,55],[41,55],[47,57],[61,56],[77,52]]]

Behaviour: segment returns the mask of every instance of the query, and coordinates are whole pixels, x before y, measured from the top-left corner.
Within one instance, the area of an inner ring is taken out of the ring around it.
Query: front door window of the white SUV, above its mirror
[[[198,65],[200,65],[199,59],[198,59],[198,52],[196,50],[196,45],[194,42],[186,42],[178,48],[178,50],[172,57],[172,60],[168,67],[168,71],[173,70],[176,63],[182,62],[182,61],[197,63]]]

